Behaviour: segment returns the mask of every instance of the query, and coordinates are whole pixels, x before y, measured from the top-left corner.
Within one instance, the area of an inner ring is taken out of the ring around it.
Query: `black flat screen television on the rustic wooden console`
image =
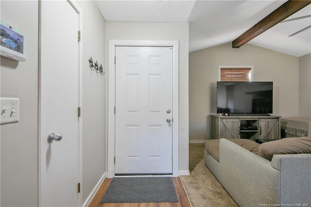
[[[273,113],[273,82],[217,82],[217,113]]]

